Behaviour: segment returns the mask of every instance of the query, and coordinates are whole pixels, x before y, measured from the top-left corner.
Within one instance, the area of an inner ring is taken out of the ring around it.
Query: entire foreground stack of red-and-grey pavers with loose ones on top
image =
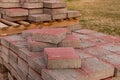
[[[119,80],[119,41],[87,29],[34,29],[1,37],[1,57],[9,80]]]

